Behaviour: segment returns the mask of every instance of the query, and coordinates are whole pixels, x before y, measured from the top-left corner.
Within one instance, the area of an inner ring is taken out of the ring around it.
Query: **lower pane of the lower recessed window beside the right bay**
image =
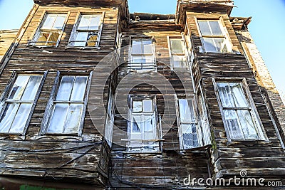
[[[180,125],[180,127],[182,130],[183,149],[199,147],[196,125],[195,124],[182,124]]]

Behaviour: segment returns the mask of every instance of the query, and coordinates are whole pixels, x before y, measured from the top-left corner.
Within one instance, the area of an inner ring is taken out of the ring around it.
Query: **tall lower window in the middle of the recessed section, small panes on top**
[[[160,135],[153,100],[132,98],[128,126],[128,151],[156,152],[160,150]]]

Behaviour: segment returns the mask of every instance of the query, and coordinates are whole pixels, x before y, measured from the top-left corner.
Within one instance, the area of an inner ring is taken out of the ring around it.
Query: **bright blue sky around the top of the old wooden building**
[[[177,0],[128,0],[130,12],[175,14]],[[162,6],[163,5],[163,6]],[[274,83],[285,92],[285,0],[235,0],[232,16],[252,16],[249,31]],[[21,27],[33,0],[0,0],[0,29]]]

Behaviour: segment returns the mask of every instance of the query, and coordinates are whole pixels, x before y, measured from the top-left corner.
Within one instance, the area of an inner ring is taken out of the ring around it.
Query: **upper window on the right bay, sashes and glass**
[[[199,20],[199,31],[202,36],[204,51],[231,52],[229,42],[218,20]]]

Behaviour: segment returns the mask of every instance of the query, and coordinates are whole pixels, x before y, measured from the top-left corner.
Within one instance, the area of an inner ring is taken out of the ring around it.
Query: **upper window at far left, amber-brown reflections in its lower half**
[[[46,14],[30,45],[57,46],[65,21],[66,14]]]

